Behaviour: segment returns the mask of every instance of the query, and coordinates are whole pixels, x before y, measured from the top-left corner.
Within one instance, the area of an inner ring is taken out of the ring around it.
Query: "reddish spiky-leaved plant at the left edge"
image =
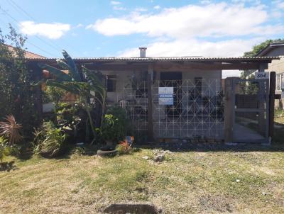
[[[13,116],[6,116],[6,121],[0,122],[0,136],[8,137],[12,145],[16,144],[22,139],[21,128]]]

